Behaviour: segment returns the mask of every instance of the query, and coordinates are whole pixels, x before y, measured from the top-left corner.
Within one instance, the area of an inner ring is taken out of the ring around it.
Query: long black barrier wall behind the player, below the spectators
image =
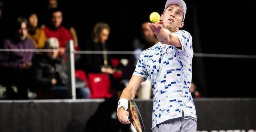
[[[102,101],[104,100],[1,100],[0,132],[84,132],[86,121]],[[152,100],[135,101],[146,132],[151,132]],[[194,102],[198,131],[256,131],[255,98],[200,98]]]

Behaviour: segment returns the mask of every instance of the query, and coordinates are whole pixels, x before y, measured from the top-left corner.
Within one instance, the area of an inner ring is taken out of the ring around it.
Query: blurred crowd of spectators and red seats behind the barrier
[[[2,2],[0,19],[1,7]],[[9,29],[11,34],[8,36],[4,36],[4,32],[0,31],[0,49],[50,50],[0,51],[0,89],[5,88],[2,99],[68,98],[65,51],[67,42],[72,40],[75,50],[103,51],[102,54],[76,54],[76,97],[115,97],[117,102],[132,76],[139,53],[158,42],[147,22],[144,22],[141,24],[141,36],[134,38],[131,45],[136,54],[120,60],[106,54],[109,50],[108,37],[111,32],[107,23],[96,23],[86,43],[78,44],[76,29],[73,26],[62,26],[63,12],[58,7],[57,0],[48,0],[48,8],[42,12],[44,13],[30,12],[26,17],[18,17]],[[0,28],[2,26],[0,24]],[[152,98],[151,86],[148,78],[141,84],[136,98]],[[191,92],[200,97],[196,86],[193,86]]]

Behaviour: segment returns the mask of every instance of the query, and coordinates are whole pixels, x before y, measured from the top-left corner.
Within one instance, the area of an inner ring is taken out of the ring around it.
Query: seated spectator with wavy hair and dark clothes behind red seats
[[[95,24],[92,38],[87,40],[85,46],[81,46],[82,50],[107,51],[109,34],[108,24],[103,22]],[[85,73],[106,73],[110,76],[112,87],[116,88],[118,87],[116,84],[120,81],[119,75],[122,75],[122,71],[119,70],[122,64],[115,67],[110,62],[110,56],[103,52],[103,54],[82,54],[77,69],[82,69]]]

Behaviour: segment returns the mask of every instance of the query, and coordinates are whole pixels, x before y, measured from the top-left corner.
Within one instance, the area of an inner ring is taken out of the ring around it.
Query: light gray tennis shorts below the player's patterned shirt
[[[166,120],[157,124],[153,132],[196,132],[196,120],[183,117]]]

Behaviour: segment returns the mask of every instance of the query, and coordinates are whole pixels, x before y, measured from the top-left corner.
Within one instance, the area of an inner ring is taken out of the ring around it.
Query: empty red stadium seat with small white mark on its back
[[[114,92],[111,89],[110,79],[105,73],[89,73],[90,98],[109,98]]]

